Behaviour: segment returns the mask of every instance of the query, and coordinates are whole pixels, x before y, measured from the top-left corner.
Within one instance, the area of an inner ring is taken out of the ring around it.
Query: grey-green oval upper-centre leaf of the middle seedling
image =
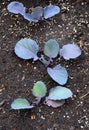
[[[59,44],[56,40],[50,39],[45,43],[44,54],[49,58],[55,58],[59,52]]]

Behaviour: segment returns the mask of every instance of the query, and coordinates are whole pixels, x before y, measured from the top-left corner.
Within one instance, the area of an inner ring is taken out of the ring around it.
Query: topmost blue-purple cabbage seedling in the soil
[[[40,20],[48,19],[60,13],[60,8],[56,5],[48,5],[45,8],[41,6],[35,7],[31,13],[26,12],[24,5],[18,1],[10,2],[7,6],[9,12],[21,14],[26,20],[39,22]]]

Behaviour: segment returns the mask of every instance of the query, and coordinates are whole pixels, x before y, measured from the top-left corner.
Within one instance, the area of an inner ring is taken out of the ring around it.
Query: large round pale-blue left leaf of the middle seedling
[[[17,42],[15,46],[15,53],[18,57],[22,59],[34,59],[38,60],[37,53],[39,51],[39,46],[36,41],[30,38],[23,38]]]

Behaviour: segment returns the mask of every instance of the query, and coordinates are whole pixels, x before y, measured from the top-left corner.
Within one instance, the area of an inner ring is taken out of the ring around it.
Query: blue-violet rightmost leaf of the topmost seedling
[[[56,5],[48,5],[44,8],[44,18],[48,19],[60,12],[60,8]]]

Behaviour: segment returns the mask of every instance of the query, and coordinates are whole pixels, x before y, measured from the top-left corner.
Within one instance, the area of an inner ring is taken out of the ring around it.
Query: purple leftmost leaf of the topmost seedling
[[[11,13],[21,14],[21,15],[24,15],[25,10],[26,10],[24,5],[20,2],[17,2],[17,1],[10,2],[10,4],[7,6],[7,9]]]

